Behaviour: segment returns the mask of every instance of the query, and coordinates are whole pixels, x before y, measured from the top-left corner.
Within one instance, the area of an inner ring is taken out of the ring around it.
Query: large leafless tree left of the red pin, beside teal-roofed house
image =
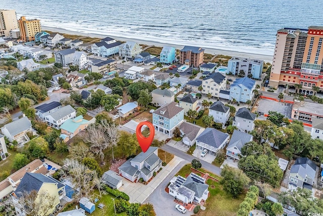
[[[84,141],[90,143],[90,150],[101,158],[101,163],[104,163],[103,150],[109,147],[110,140],[106,133],[106,126],[109,124],[90,124],[87,127],[87,132],[84,135]]]

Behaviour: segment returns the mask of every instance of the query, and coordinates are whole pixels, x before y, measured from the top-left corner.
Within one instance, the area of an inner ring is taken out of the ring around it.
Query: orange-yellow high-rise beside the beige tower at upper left
[[[26,20],[26,17],[21,17],[18,24],[21,39],[25,42],[35,40],[35,34],[41,32],[40,20]]]

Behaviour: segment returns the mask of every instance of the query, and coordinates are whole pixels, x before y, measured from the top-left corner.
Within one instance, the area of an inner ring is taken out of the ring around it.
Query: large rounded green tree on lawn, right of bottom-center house
[[[243,189],[249,184],[250,179],[242,170],[225,165],[221,171],[221,181],[223,189],[236,198]]]

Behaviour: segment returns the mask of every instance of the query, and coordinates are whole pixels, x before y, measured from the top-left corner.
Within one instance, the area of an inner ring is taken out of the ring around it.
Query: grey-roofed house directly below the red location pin
[[[138,182],[140,178],[147,182],[161,167],[162,161],[157,155],[158,148],[149,147],[147,152],[141,152],[121,165],[119,174],[132,182]]]

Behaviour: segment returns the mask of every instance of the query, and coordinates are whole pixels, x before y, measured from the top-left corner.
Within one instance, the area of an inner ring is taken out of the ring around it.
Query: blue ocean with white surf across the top
[[[277,30],[323,25],[322,0],[1,0],[42,26],[272,55]]]

